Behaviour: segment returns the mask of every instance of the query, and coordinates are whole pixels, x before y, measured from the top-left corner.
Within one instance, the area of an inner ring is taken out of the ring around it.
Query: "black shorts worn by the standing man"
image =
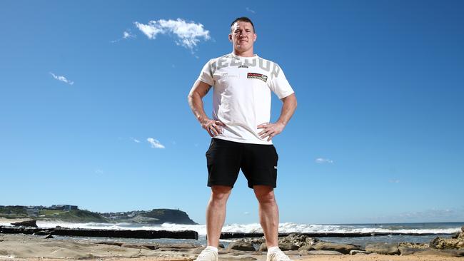
[[[253,185],[276,188],[278,155],[274,145],[237,143],[212,138],[206,151],[208,186],[226,185],[233,188],[240,169]]]

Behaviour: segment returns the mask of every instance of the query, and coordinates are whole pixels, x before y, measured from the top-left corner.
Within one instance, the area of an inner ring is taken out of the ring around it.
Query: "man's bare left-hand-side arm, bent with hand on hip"
[[[225,126],[221,121],[213,121],[206,116],[203,108],[203,97],[206,96],[211,86],[208,83],[197,80],[193,83],[190,93],[188,93],[188,105],[190,106],[201,127],[208,131],[211,137],[222,133],[221,126]]]

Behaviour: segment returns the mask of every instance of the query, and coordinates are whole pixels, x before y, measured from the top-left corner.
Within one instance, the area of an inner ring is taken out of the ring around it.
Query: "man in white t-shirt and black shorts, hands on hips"
[[[296,96],[282,69],[253,53],[253,22],[240,17],[228,35],[233,52],[213,58],[201,71],[188,95],[188,103],[211,137],[206,152],[211,198],[206,208],[208,246],[198,261],[218,261],[218,244],[226,219],[226,202],[240,169],[259,203],[259,220],[268,247],[267,261],[290,260],[278,248],[277,160],[272,138],[283,131],[296,109]],[[202,98],[214,86],[213,118]],[[271,91],[283,101],[281,116],[271,118]]]

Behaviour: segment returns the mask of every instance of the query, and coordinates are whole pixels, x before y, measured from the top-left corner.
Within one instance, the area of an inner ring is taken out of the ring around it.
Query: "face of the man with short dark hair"
[[[256,41],[253,26],[246,21],[236,21],[228,37],[233,44],[233,48],[240,52],[253,48],[253,44]]]

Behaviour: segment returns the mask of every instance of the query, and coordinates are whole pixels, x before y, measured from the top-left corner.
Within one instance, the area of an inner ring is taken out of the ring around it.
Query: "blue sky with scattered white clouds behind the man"
[[[463,222],[463,12],[463,1],[0,1],[0,205],[174,208],[204,224],[210,137],[187,95],[248,16],[255,53],[298,98],[273,138],[280,222]],[[204,102],[211,116],[211,91]],[[241,174],[226,223],[253,222]]]

